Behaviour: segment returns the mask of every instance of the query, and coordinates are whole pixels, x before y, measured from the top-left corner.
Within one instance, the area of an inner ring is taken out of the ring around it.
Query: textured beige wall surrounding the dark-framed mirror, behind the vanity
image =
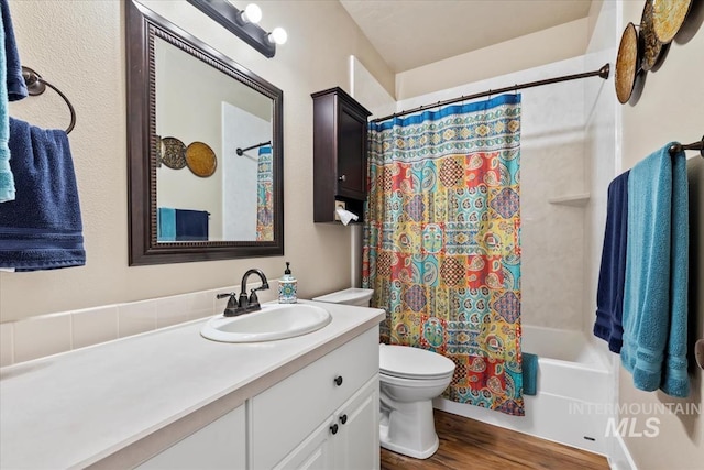
[[[351,54],[393,89],[384,62],[338,2],[263,2],[264,28],[282,25],[289,35],[272,59],[185,1],[145,3],[284,90],[285,258],[129,267],[123,3],[11,1],[23,64],[76,107],[69,138],[88,261],[85,267],[0,273],[0,321],[232,285],[252,266],[279,277],[285,260],[304,298],[350,285],[350,231],[312,222],[310,94],[346,88]],[[66,106],[51,90],[16,103],[11,114],[42,127],[68,123]]]

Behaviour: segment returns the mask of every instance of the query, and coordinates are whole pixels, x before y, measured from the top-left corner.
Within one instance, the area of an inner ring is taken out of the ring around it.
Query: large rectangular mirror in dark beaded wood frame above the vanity
[[[130,265],[283,255],[283,91],[133,0],[125,19]]]

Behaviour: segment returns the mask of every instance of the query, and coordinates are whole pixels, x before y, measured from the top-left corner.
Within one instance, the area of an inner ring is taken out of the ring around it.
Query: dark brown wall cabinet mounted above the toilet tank
[[[360,216],[366,199],[366,118],[340,88],[312,94],[314,220],[336,220],[336,201]]]

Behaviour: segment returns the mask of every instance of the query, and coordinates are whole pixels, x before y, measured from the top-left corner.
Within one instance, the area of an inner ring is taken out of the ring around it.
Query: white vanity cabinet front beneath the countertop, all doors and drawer
[[[139,468],[378,469],[378,328],[295,372]]]

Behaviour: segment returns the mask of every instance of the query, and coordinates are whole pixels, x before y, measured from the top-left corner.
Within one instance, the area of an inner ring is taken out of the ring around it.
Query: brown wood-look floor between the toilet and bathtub
[[[382,470],[608,470],[605,457],[435,411],[440,448],[426,460],[382,449]]]

